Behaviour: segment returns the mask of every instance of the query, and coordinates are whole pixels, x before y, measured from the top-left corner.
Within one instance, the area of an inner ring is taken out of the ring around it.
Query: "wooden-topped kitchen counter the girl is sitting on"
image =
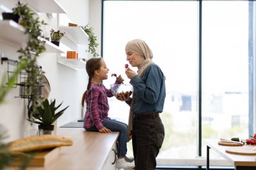
[[[58,136],[69,137],[72,146],[61,146],[59,155],[45,167],[28,167],[28,170],[109,170],[115,169],[116,141],[119,132],[102,134],[84,128],[57,128]],[[11,169],[18,170],[17,167]]]

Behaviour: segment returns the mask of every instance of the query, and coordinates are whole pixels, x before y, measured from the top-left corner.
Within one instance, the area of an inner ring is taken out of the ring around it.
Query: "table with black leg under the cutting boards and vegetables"
[[[207,159],[206,159],[206,169],[209,170],[209,152],[212,148],[216,153],[224,157],[227,161],[234,165],[235,170],[255,170],[256,169],[256,155],[235,155],[226,153],[226,148],[230,147],[249,147],[253,148],[256,145],[245,144],[244,146],[222,146],[218,144],[218,139],[207,139],[205,144],[207,145]]]

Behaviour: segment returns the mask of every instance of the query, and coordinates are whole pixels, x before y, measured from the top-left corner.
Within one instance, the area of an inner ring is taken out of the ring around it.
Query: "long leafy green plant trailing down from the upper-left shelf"
[[[45,51],[44,44],[42,41],[42,30],[41,26],[46,25],[44,21],[39,21],[39,17],[35,16],[34,12],[26,5],[20,3],[13,8],[13,13],[20,15],[20,24],[24,27],[24,34],[28,35],[28,42],[26,47],[20,48],[19,60],[22,63],[26,63],[24,70],[26,71],[28,77],[26,79],[25,85],[28,88],[28,96],[31,97],[32,105],[36,105],[36,102],[40,99],[39,96],[35,95],[38,93],[38,84],[40,84],[40,79],[43,71],[38,69],[36,60],[38,56]],[[28,112],[28,117],[30,118],[30,112]]]

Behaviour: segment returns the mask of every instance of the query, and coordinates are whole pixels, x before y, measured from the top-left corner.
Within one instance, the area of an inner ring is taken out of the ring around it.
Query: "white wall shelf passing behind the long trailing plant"
[[[24,34],[24,28],[12,20],[0,20],[0,41],[14,48],[24,48],[27,45],[28,36]],[[42,39],[44,40],[44,39]],[[46,52],[63,53],[59,46],[45,41]]]

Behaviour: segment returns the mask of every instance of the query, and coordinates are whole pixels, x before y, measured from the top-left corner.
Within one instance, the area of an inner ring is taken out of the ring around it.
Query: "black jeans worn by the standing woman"
[[[156,157],[164,141],[161,118],[133,118],[133,156],[136,170],[156,169]]]

